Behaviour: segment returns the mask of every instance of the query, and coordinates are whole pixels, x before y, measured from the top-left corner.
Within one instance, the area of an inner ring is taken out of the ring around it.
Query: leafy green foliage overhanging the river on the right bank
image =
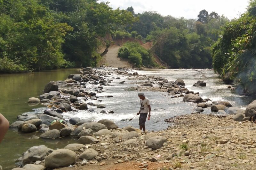
[[[224,27],[212,50],[213,67],[221,76],[230,74],[248,93],[256,93],[256,1],[247,12]]]

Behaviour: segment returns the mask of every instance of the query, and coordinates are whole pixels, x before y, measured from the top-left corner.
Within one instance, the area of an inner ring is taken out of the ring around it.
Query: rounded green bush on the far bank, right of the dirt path
[[[137,67],[156,66],[153,55],[136,42],[126,42],[123,47],[119,48],[118,57],[129,59]]]

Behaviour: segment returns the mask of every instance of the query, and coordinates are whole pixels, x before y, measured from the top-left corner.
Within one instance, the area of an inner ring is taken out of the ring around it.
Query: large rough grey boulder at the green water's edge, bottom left
[[[24,165],[35,163],[37,160],[44,160],[53,151],[53,149],[47,148],[45,145],[33,146],[22,153],[21,160]]]

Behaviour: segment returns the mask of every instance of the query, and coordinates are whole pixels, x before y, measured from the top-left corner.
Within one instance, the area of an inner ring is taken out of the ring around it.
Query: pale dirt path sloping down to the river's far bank
[[[111,46],[108,48],[108,53],[103,56],[100,65],[107,65],[110,67],[132,67],[128,60],[120,59],[117,57],[117,52],[120,46]]]

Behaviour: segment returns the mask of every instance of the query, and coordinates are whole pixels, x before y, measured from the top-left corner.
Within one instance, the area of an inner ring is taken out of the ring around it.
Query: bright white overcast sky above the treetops
[[[110,2],[113,9],[127,9],[132,6],[135,13],[157,11],[163,16],[171,15],[176,18],[197,18],[201,10],[210,14],[212,11],[224,15],[228,19],[239,18],[248,6],[248,0],[99,0]]]

